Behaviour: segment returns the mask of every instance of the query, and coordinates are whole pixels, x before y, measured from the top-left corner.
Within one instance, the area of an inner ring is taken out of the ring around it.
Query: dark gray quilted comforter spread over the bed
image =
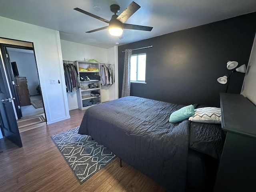
[[[92,136],[172,192],[184,192],[190,122],[169,122],[170,114],[182,107],[134,96],[120,98],[86,110],[78,133]]]

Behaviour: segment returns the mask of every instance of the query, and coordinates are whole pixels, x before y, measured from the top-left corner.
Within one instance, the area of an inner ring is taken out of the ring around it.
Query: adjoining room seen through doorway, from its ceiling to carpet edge
[[[7,47],[22,118],[44,113],[34,50]]]

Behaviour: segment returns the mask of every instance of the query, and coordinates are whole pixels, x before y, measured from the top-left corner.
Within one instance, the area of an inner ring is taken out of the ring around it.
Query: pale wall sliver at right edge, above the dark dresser
[[[244,78],[242,95],[256,104],[256,36],[252,45],[252,51]]]

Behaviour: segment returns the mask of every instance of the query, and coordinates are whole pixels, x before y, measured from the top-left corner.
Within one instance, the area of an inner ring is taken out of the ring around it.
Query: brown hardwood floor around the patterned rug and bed
[[[0,139],[0,191],[3,192],[167,192],[116,158],[79,184],[50,136],[80,126],[85,111],[71,118],[20,133],[23,147]],[[3,152],[2,152],[3,151]]]

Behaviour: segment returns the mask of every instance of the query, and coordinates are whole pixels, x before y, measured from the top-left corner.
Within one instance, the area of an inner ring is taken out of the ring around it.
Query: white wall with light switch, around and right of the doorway
[[[70,118],[60,33],[56,30],[0,17],[0,37],[34,43],[38,74],[47,123],[51,124]],[[50,84],[50,79],[60,80],[60,84]]]

